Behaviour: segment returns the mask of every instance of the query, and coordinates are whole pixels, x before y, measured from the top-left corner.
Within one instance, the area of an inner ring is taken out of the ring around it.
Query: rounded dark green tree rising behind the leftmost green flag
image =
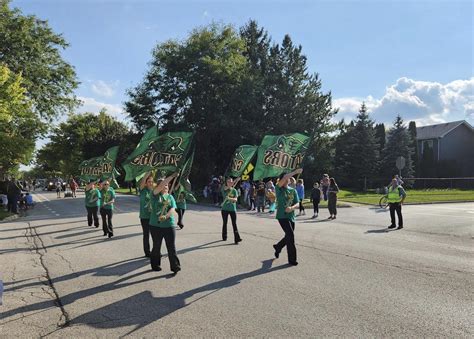
[[[124,158],[134,147],[134,141],[135,138],[130,140],[127,126],[105,110],[98,115],[71,114],[53,130],[50,142],[38,151],[36,164],[47,172],[76,175],[83,160],[100,156],[112,146],[120,145]]]

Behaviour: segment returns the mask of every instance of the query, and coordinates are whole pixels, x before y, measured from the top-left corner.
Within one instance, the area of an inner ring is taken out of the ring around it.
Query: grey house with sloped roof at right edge
[[[474,177],[474,129],[467,121],[417,127],[416,139],[420,160],[429,152],[438,176]]]

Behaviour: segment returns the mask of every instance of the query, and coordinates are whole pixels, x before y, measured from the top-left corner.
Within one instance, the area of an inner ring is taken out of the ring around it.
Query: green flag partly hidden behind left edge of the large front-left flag
[[[153,169],[148,158],[151,158],[153,148],[151,144],[158,138],[158,127],[149,128],[140,139],[137,147],[133,150],[122,164],[125,169],[125,181],[132,181],[135,178],[141,178],[146,172]],[[143,165],[140,165],[143,163]]]

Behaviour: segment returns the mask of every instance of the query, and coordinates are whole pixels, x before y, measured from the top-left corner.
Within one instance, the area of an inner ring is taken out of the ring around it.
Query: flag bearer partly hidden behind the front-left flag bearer
[[[150,215],[151,196],[153,194],[153,175],[151,172],[145,174],[140,182],[140,224],[143,230],[143,251],[146,257],[150,257]]]

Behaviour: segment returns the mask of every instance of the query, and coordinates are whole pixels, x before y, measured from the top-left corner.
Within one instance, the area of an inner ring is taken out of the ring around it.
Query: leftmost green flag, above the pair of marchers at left
[[[100,157],[95,157],[81,162],[79,170],[82,180],[110,179],[114,177],[115,161],[117,159],[119,146],[114,146],[105,151]]]

